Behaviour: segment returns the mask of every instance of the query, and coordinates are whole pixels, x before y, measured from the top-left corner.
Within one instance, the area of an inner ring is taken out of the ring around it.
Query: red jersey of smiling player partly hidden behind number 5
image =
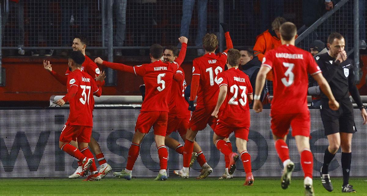
[[[182,80],[177,81],[175,78],[172,81],[170,102],[168,108],[170,109],[169,116],[173,118],[190,118],[189,104],[185,100],[185,72],[181,67],[178,68],[176,75],[182,75]]]

